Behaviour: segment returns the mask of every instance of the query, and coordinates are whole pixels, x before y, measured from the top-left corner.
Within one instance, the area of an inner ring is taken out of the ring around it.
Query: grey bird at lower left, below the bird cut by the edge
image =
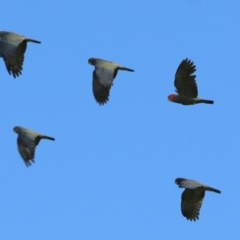
[[[13,131],[18,134],[17,146],[22,159],[25,164],[31,166],[34,163],[35,148],[41,139],[48,139],[54,141],[52,137],[42,135],[24,127],[14,127]],[[31,162],[32,161],[32,162]]]

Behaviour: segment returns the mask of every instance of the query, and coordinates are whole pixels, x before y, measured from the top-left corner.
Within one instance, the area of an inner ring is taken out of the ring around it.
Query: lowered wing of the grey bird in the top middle
[[[111,64],[95,67],[93,71],[93,95],[99,104],[104,104],[108,101],[109,92],[116,75],[117,68],[111,67]]]

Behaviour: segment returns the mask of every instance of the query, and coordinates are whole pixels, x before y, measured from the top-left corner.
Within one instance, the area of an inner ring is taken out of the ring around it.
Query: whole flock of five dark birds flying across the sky
[[[7,31],[0,32],[0,57],[3,58],[8,73],[13,75],[14,78],[22,74],[27,42],[41,43],[40,41],[16,33]],[[88,63],[95,67],[92,82],[93,95],[100,105],[106,104],[109,100],[110,90],[118,70],[134,72],[134,70],[121,66],[120,64],[99,58],[90,58]],[[191,60],[184,59],[180,63],[175,73],[174,80],[174,85],[178,94],[170,94],[168,96],[169,101],[183,105],[214,103],[212,100],[198,98],[196,75],[193,75],[195,71],[196,66]],[[18,151],[27,167],[34,163],[35,149],[41,139],[55,140],[53,137],[40,134],[24,127],[16,126],[13,128],[13,131],[18,134]],[[199,219],[205,191],[221,193],[221,191],[215,188],[184,178],[177,178],[175,183],[180,188],[185,188],[181,197],[181,211],[183,216],[191,221]]]

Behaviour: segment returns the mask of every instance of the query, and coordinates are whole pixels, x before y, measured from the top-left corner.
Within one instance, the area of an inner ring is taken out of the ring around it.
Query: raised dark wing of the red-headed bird
[[[196,98],[198,89],[196,84],[196,75],[192,75],[196,71],[196,66],[189,60],[183,60],[175,73],[174,86],[179,95]]]

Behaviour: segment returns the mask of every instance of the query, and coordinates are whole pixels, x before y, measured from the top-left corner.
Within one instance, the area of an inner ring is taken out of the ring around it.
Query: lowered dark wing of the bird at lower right
[[[185,189],[182,193],[181,210],[183,216],[188,220],[199,219],[199,212],[204,199],[205,190],[202,187],[196,189]]]

